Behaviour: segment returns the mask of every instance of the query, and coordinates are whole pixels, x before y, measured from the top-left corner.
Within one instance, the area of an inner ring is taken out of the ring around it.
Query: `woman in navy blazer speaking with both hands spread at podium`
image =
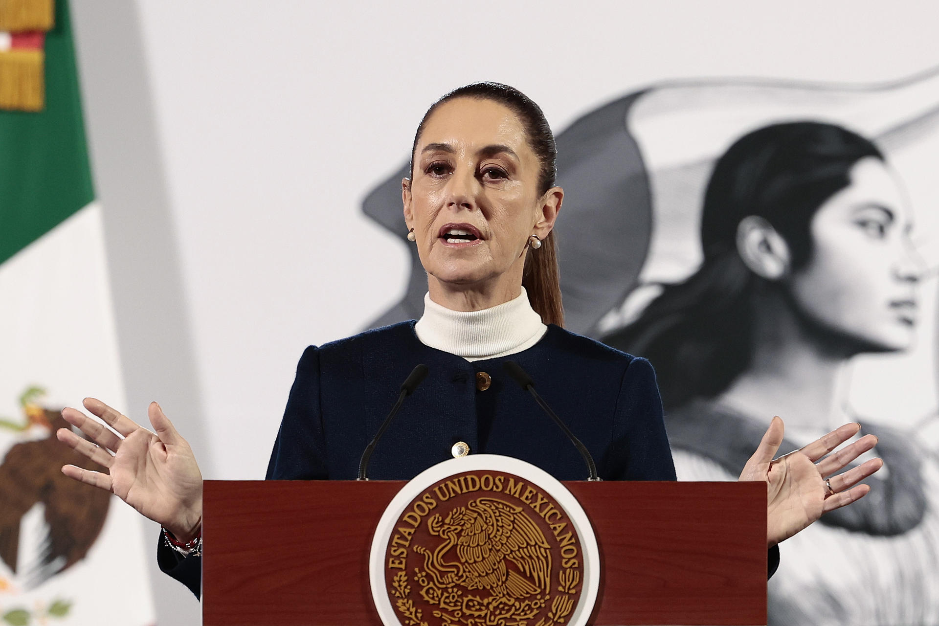
[[[541,109],[512,87],[470,84],[430,107],[401,183],[408,239],[427,272],[424,313],[304,351],[269,479],[355,479],[362,450],[419,363],[426,379],[381,440],[372,478],[408,480],[467,451],[513,456],[559,480],[586,478],[570,441],[503,374],[512,359],[590,450],[602,479],[675,480],[649,362],[562,328],[555,157]],[[198,593],[202,475],[189,444],[156,403],[148,409],[154,433],[98,400],[85,408],[119,435],[67,408],[65,419],[90,441],[67,429],[58,437],[108,472],[62,471],[162,524],[163,571]],[[853,485],[879,459],[836,472],[875,437],[825,456],[858,429],[842,426],[773,461],[783,426],[771,422],[740,477],[767,483],[768,546],[868,492]]]

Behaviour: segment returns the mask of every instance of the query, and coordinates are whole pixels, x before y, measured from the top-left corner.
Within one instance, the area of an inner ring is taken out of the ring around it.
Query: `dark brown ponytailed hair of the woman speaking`
[[[534,100],[518,91],[515,87],[500,83],[474,83],[454,89],[436,102],[423,115],[421,124],[414,133],[414,145],[411,146],[410,174],[414,177],[414,151],[421,140],[423,127],[430,115],[444,102],[456,98],[488,99],[508,107],[518,115],[528,135],[529,145],[541,163],[538,176],[538,193],[554,187],[557,176],[558,149],[554,143],[554,133],[547,124],[545,114]],[[528,291],[531,308],[541,315],[545,324],[564,324],[564,310],[561,302],[561,281],[558,272],[558,253],[554,231],[548,233],[537,252],[529,249],[525,259],[525,273],[522,286]]]

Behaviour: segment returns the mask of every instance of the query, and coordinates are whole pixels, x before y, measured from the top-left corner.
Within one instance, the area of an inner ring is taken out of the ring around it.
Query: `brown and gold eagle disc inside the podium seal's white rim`
[[[509,474],[465,472],[431,485],[397,520],[385,582],[406,626],[566,626],[582,560],[551,496]]]

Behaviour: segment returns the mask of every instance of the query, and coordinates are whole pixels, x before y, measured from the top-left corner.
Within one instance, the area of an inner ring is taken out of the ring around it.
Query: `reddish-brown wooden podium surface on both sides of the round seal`
[[[206,481],[206,626],[380,626],[368,577],[404,481]],[[602,570],[592,624],[766,623],[762,482],[564,482]]]

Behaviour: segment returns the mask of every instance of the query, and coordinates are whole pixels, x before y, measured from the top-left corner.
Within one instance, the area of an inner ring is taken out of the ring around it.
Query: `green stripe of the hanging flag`
[[[95,197],[66,0],[45,51],[45,109],[0,111],[0,263]]]

